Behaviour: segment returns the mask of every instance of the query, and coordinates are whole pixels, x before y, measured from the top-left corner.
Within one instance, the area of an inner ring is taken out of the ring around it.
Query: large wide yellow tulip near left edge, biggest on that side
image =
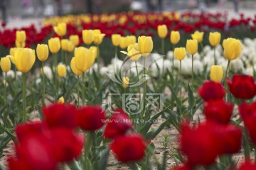
[[[14,55],[14,63],[18,71],[26,73],[36,61],[35,50],[31,48],[17,48]]]

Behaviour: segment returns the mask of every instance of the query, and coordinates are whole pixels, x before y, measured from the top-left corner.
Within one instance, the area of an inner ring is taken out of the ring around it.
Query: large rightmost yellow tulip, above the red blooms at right
[[[242,52],[240,40],[228,38],[223,40],[224,56],[228,60],[235,60]]]

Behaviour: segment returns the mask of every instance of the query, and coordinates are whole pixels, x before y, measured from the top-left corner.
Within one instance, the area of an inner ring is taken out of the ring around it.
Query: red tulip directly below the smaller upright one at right
[[[230,122],[233,104],[223,100],[206,101],[203,113],[206,115],[206,120],[226,125]]]

